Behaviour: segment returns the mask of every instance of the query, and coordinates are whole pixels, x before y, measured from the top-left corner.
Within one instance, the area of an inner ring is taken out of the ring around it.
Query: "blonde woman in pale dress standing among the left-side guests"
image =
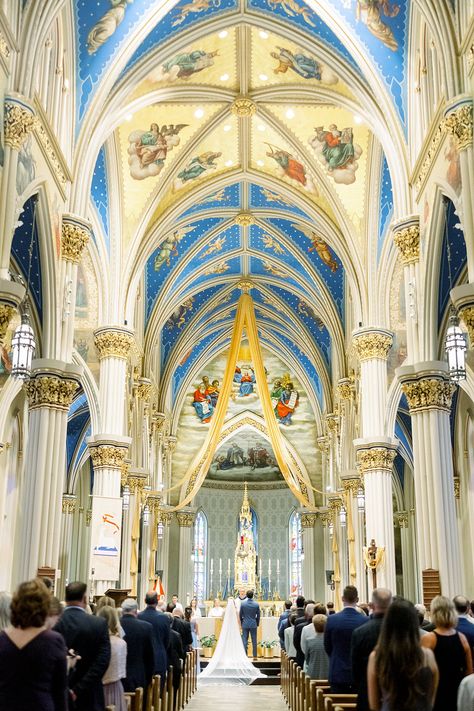
[[[127,676],[127,643],[120,637],[118,612],[115,607],[104,605],[97,611],[97,617],[106,620],[110,635],[110,663],[102,678],[105,705],[115,706],[116,711],[127,711],[121,681]]]

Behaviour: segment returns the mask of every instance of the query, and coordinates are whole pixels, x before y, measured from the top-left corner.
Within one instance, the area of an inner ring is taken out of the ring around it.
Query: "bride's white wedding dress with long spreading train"
[[[249,660],[242,644],[237,609],[233,598],[227,601],[222,630],[207,667],[199,674],[198,683],[251,684],[265,677]]]

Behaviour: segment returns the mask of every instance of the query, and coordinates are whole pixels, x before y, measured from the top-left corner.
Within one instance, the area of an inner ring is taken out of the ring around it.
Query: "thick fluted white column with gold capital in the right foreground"
[[[439,571],[443,595],[463,589],[449,414],[454,386],[444,361],[397,369],[413,427],[416,530],[421,570]]]

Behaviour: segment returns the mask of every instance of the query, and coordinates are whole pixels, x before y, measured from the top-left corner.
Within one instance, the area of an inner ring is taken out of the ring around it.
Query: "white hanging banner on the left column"
[[[92,580],[118,580],[122,539],[122,499],[94,496],[91,518]]]

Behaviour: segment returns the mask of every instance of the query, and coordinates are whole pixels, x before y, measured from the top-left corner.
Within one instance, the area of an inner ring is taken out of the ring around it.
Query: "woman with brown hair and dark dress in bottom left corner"
[[[0,709],[66,711],[66,645],[47,629],[50,593],[40,580],[22,583],[11,625],[0,632]]]

